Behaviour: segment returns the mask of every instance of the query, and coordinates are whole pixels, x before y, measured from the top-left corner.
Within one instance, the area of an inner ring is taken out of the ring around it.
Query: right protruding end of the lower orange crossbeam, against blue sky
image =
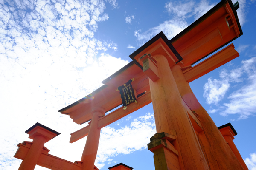
[[[204,76],[204,74],[207,74],[210,71],[238,57],[239,54],[234,48],[234,45],[231,44],[223,50],[219,51],[218,53],[214,54],[212,57],[209,57],[208,59],[200,62],[194,67],[183,71],[186,81],[192,82],[193,80]]]

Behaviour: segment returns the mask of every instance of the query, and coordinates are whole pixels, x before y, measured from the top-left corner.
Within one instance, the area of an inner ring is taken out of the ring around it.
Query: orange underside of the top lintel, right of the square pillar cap
[[[210,54],[240,34],[236,20],[234,20],[234,13],[230,9],[230,5],[227,3],[183,34],[182,37],[172,42],[172,45],[183,58],[182,62],[185,66],[191,65]],[[234,23],[232,28],[227,26],[225,18],[227,15],[232,16]]]

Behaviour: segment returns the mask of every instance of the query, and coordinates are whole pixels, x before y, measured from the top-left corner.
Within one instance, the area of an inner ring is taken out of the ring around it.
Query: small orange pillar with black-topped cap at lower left
[[[44,147],[44,143],[58,136],[60,133],[41,125],[40,123],[36,123],[26,130],[25,133],[29,134],[29,138],[33,139],[33,143],[18,170],[34,170]]]

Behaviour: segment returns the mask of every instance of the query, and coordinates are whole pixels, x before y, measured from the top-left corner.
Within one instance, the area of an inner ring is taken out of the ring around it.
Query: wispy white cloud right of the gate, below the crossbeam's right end
[[[217,105],[224,98],[231,82],[246,81],[246,85],[227,97],[229,101],[223,103],[222,111],[219,113],[223,116],[237,114],[239,119],[246,119],[253,115],[256,110],[256,57],[242,61],[240,68],[221,71],[220,77],[220,80],[209,78],[204,85],[204,97],[207,103]]]

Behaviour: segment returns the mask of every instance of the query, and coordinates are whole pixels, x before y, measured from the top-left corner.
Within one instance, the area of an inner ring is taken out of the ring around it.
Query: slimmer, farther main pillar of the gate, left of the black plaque
[[[81,161],[83,161],[81,170],[93,170],[94,168],[94,162],[97,156],[100,136],[100,129],[98,129],[98,120],[99,117],[105,115],[105,110],[99,107],[93,108],[92,115],[93,118],[90,124],[90,130],[81,158]]]

